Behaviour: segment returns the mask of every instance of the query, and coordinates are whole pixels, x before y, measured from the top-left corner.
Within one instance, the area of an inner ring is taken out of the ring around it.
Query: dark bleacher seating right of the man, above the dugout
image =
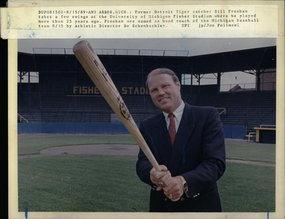
[[[246,126],[246,133],[254,132],[260,124],[276,124],[276,91],[225,92],[199,96],[197,106],[226,108],[221,114],[224,125]]]

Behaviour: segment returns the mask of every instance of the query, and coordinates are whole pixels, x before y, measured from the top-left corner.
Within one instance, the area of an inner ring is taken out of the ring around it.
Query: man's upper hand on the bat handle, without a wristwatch
[[[163,186],[169,186],[171,183],[171,173],[167,170],[167,167],[164,165],[159,165],[161,172],[156,171],[154,168],[151,169],[151,181],[155,183],[158,188],[157,191],[162,190],[162,186],[159,183],[163,183]]]

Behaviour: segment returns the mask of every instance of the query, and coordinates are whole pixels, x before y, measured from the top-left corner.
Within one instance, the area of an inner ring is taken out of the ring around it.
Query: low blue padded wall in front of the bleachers
[[[244,132],[244,126],[224,125],[226,138],[243,139]],[[129,134],[129,131],[122,123],[18,123],[18,134]]]

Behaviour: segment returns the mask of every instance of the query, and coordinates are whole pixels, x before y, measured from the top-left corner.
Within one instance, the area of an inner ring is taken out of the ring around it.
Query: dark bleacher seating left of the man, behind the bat
[[[30,107],[27,96],[18,94],[18,113],[29,122],[110,123],[114,113],[102,96],[31,92]],[[149,95],[123,95],[123,99],[137,123],[159,112]]]

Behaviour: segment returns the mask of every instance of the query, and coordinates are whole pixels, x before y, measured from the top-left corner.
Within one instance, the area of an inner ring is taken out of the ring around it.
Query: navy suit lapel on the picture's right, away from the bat
[[[196,121],[192,119],[191,106],[185,103],[168,164],[168,170],[172,176],[176,175],[180,162],[185,162],[185,147],[189,141],[195,122]]]

